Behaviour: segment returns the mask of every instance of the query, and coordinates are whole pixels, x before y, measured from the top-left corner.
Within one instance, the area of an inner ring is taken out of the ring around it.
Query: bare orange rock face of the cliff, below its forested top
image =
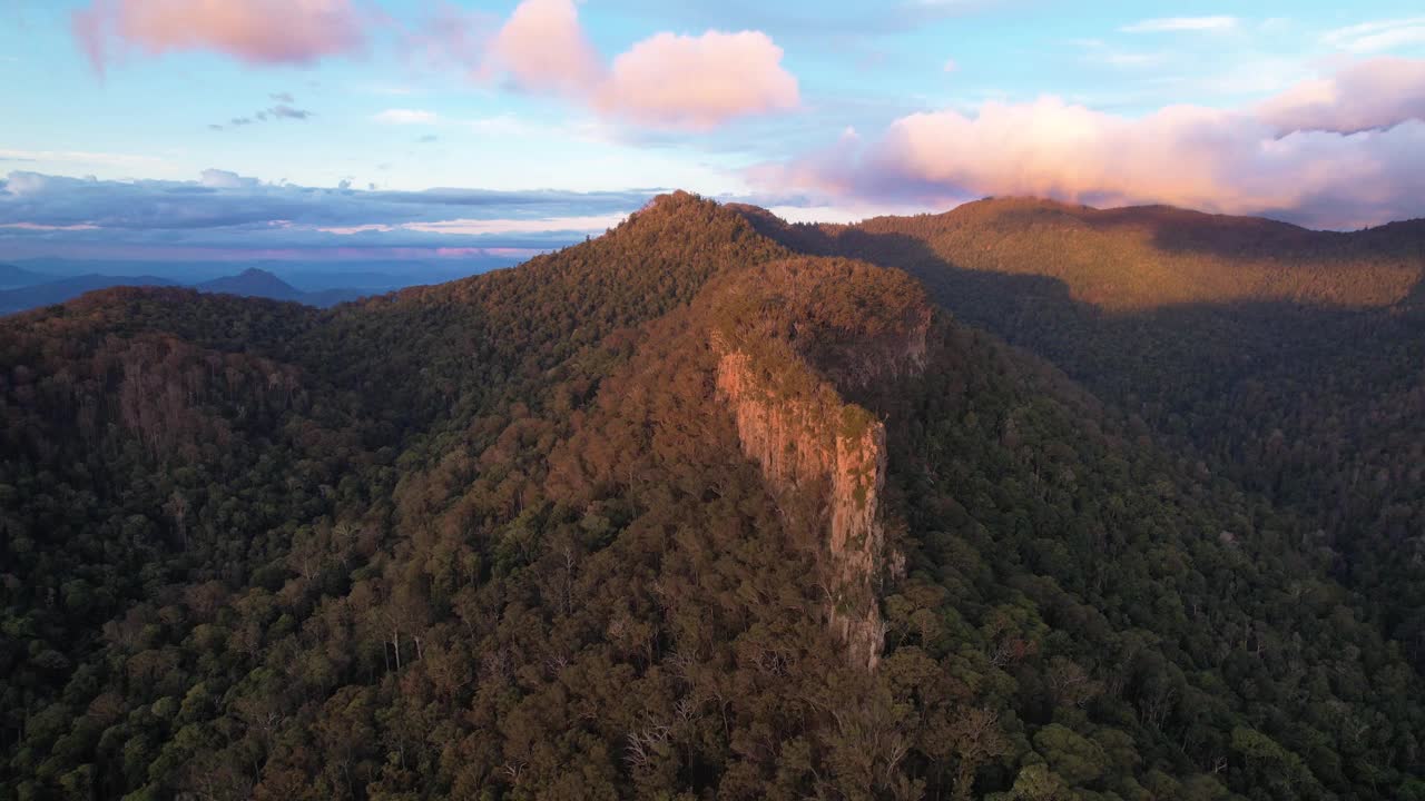
[[[805,282],[807,274],[799,278]],[[931,314],[918,294],[911,299],[905,308],[866,312],[854,328],[799,325],[797,309],[785,308],[784,315],[794,315],[789,326],[758,318],[764,331],[789,328],[789,342],[712,338],[718,396],[737,422],[742,452],[761,466],[774,493],[795,493],[817,509],[828,623],[848,658],[866,668],[881,656],[885,627],[876,599],[888,564],[896,562],[888,553],[882,510],[886,433],[838,388],[865,389],[923,368]]]

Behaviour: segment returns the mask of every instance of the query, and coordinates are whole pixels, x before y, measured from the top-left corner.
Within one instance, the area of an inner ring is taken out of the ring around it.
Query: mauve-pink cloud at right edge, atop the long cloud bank
[[[1371,58],[1261,104],[1280,131],[1354,134],[1425,120],[1425,60]]]

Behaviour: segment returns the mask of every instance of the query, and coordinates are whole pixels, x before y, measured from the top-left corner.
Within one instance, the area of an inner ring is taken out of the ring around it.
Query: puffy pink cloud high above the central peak
[[[705,130],[799,103],[782,48],[760,31],[660,33],[614,58],[596,104],[637,123]]]

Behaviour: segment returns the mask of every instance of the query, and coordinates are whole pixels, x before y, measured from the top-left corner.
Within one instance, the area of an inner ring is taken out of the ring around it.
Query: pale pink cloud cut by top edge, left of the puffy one
[[[487,68],[526,91],[586,94],[604,67],[579,23],[573,0],[524,0],[490,44]]]

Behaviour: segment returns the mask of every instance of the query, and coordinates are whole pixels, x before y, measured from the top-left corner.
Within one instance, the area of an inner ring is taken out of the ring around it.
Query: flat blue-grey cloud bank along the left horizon
[[[547,249],[603,232],[653,191],[436,188],[352,191],[268,184],[228,170],[195,181],[97,181],[14,171],[0,180],[0,258],[98,254],[274,258],[302,251],[462,255]],[[212,251],[218,251],[217,254]],[[437,252],[437,251],[443,251]]]

